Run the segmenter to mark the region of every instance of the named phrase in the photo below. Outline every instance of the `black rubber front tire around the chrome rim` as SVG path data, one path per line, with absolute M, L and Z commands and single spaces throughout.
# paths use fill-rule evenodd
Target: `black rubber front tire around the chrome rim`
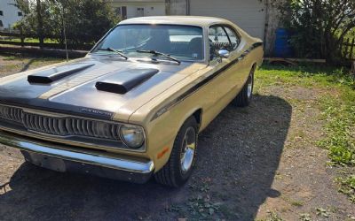
M 189 170 L 184 171 L 184 166 L 182 164 L 182 154 L 184 154 L 184 141 L 187 133 L 192 133 L 194 131 L 195 146 L 193 151 L 192 164 Z M 170 159 L 167 164 L 162 167 L 162 170 L 155 173 L 154 178 L 158 183 L 161 183 L 165 186 L 170 187 L 181 187 L 185 182 L 190 178 L 191 173 L 193 172 L 194 163 L 196 160 L 197 152 L 197 143 L 198 143 L 198 124 L 196 119 L 191 117 L 188 118 L 184 125 L 181 126 L 180 130 L 177 133 L 177 137 L 174 141 L 174 146 L 171 150 Z

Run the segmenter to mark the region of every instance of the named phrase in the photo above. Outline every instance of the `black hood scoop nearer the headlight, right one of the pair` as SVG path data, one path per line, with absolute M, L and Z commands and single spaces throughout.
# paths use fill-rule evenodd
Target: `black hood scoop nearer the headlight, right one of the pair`
M 95 87 L 100 91 L 124 95 L 132 88 L 136 88 L 159 72 L 157 69 L 131 69 L 113 73 L 105 80 L 96 82 Z

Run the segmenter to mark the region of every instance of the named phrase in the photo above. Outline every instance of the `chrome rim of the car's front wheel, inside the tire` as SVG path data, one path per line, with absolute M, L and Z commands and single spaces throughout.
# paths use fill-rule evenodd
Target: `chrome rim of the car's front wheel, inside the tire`
M 188 127 L 182 143 L 180 163 L 181 171 L 185 174 L 193 166 L 193 157 L 196 150 L 196 132 L 193 127 Z

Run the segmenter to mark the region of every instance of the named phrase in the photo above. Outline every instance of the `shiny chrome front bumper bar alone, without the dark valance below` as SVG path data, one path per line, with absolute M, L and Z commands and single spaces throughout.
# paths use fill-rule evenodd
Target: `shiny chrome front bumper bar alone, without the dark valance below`
M 64 149 L 65 147 L 51 144 L 49 142 L 31 141 L 29 139 L 0 131 L 0 143 L 16 149 L 34 152 L 44 156 L 51 156 L 62 160 L 72 161 L 81 164 L 91 164 L 111 168 L 119 171 L 128 171 L 140 174 L 154 172 L 154 162 L 148 160 L 128 160 L 104 156 L 98 153 L 81 153 Z M 54 146 L 54 147 L 53 147 Z M 55 148 L 58 146 L 58 149 Z

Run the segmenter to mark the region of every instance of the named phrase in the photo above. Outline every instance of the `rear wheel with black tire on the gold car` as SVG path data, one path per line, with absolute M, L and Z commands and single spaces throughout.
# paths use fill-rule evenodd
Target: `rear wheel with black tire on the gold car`
M 255 70 L 256 70 L 256 68 L 255 68 L 255 66 L 253 66 L 250 73 L 249 73 L 247 82 L 245 83 L 244 87 L 241 89 L 241 92 L 239 93 L 239 95 L 237 95 L 234 98 L 233 103 L 237 107 L 247 107 L 251 103 L 251 100 L 253 98 Z M 250 88 L 250 83 L 251 83 L 251 88 Z

